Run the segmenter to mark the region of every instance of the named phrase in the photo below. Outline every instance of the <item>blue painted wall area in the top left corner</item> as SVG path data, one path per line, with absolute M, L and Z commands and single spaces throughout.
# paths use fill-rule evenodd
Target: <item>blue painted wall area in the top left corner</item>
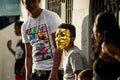
M 20 14 L 20 0 L 0 0 L 0 16 L 13 16 Z

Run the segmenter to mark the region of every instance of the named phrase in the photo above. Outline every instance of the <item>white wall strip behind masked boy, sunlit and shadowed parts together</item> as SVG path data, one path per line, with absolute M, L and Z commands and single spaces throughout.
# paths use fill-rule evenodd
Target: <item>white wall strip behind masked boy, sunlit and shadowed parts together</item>
M 72 23 L 76 26 L 75 44 L 82 50 L 87 59 L 88 66 L 91 67 L 89 53 L 89 0 L 73 0 Z

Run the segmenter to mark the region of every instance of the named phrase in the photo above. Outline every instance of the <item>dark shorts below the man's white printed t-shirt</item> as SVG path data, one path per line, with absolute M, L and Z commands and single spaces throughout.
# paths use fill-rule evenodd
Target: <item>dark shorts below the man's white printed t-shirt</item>
M 35 70 L 31 75 L 31 80 L 48 80 L 51 71 Z M 63 72 L 58 71 L 58 80 L 63 80 Z

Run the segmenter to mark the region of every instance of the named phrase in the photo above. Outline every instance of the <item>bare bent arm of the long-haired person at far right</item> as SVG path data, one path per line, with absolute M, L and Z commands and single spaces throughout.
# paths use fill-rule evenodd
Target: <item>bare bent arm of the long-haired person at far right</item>
M 102 44 L 102 52 L 108 54 L 109 56 L 120 62 L 120 47 L 117 47 L 112 43 L 106 44 L 104 42 Z

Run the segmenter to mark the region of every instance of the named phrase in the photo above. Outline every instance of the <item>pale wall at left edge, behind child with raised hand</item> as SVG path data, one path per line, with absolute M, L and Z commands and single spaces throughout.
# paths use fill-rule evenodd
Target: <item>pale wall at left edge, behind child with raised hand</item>
M 17 37 L 14 34 L 14 25 L 0 30 L 0 80 L 14 80 L 15 57 L 7 48 L 7 41 L 12 40 L 15 49 Z

